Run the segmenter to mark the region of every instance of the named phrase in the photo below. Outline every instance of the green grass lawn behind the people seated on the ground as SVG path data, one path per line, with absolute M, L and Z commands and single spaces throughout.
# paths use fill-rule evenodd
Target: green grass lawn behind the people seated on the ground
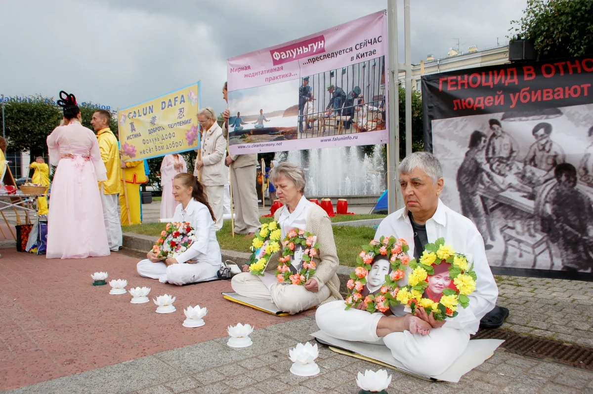
M 342 216 L 358 217 L 371 215 Z M 381 217 L 381 215 L 372 216 Z M 260 218 L 260 222 L 262 223 L 269 223 L 272 222 L 272 220 L 272 217 Z M 340 220 L 336 220 L 336 222 L 340 222 Z M 145 223 L 143 225 L 123 227 L 124 232 L 154 236 L 155 240 L 160 236 L 161 231 L 164 229 L 165 223 Z M 340 264 L 349 265 L 351 267 L 356 265 L 356 256 L 360 253 L 361 246 L 368 243 L 375 236 L 375 230 L 370 227 L 334 226 L 333 233 Z M 233 237 L 231 233 L 231 220 L 224 221 L 222 229 L 216 233 L 216 238 L 218 238 L 218 243 L 221 245 L 221 249 L 249 252 L 251 239 L 245 239 L 244 235 L 239 234 L 235 234 Z

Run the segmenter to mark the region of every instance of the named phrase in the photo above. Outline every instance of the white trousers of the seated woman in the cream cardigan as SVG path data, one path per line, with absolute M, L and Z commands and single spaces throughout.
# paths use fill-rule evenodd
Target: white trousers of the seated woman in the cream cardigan
M 241 296 L 270 300 L 282 312 L 288 312 L 291 315 L 319 305 L 331 294 L 330 289 L 325 285 L 321 285 L 320 289 L 313 293 L 298 284 L 280 283 L 274 284 L 270 293 L 260 277 L 251 273 L 240 273 L 232 277 L 231 287 Z

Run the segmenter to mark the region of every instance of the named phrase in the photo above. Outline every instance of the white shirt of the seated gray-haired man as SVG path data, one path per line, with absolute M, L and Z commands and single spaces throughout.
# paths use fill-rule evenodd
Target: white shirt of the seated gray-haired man
M 406 240 L 410 246 L 408 254 L 413 258 L 414 232 L 406 208 L 385 217 L 375 233 L 375 239 L 391 235 Z M 445 243 L 451 245 L 456 252 L 466 255 L 470 265 L 472 261 L 474 263 L 477 281 L 476 291 L 468 296 L 470 305 L 466 309 L 458 306 L 458 315 L 455 318 L 446 319 L 444 327 L 457 328 L 468 334 L 475 334 L 480 326 L 480 319 L 496 306 L 498 298 L 498 287 L 486 259 L 484 240 L 470 219 L 454 212 L 440 198 L 435 214 L 426 221 L 426 235 L 428 235 L 428 242 L 444 238 Z M 400 286 L 408 283 L 409 273 L 410 268 L 406 270 L 406 276 L 400 280 Z M 393 307 L 391 311 L 396 316 L 405 314 L 403 305 Z

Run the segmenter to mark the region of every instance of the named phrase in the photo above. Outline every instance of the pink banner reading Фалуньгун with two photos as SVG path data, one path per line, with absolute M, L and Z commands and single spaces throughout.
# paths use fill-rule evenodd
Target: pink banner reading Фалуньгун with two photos
M 387 15 L 227 60 L 232 155 L 388 142 Z

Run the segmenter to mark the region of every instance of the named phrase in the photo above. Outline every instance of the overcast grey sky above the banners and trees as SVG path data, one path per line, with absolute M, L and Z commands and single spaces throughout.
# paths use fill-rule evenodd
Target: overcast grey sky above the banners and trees
M 412 63 L 506 43 L 526 0 L 411 1 Z M 203 106 L 226 107 L 226 59 L 387 8 L 387 0 L 0 0 L 0 93 L 60 90 L 129 107 L 202 81 Z M 403 0 L 398 2 L 400 62 Z

